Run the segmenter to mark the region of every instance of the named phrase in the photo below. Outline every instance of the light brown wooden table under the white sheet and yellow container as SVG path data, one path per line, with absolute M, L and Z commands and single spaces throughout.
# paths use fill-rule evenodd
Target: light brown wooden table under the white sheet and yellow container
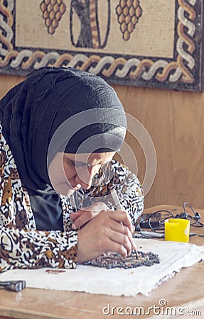
M 168 209 L 173 213 L 182 211 L 182 208 L 173 206 L 155 206 L 147 208 L 145 213 L 154 212 L 159 209 Z M 204 210 L 198 210 L 204 222 Z M 204 235 L 204 228 L 190 228 L 190 231 Z M 204 237 L 198 235 L 190 237 L 190 242 L 196 245 L 204 245 Z M 204 262 L 199 262 L 182 269 L 172 279 L 168 279 L 159 288 L 152 291 L 149 296 L 139 294 L 136 297 L 92 295 L 90 293 L 51 291 L 43 289 L 25 289 L 19 293 L 11 291 L 0 291 L 0 319 L 100 319 L 106 317 L 129 318 L 130 315 L 122 315 L 128 307 L 159 306 L 159 301 L 165 299 L 168 307 L 179 307 L 187 310 L 202 311 L 202 315 L 193 315 L 192 318 L 203 318 L 204 315 Z M 110 305 L 114 315 L 105 315 L 104 307 Z M 114 308 L 115 307 L 115 308 Z M 123 307 L 119 309 L 118 307 Z M 106 309 L 107 310 L 107 309 Z M 117 310 L 119 313 L 117 313 Z M 108 311 L 108 310 L 107 310 Z M 157 310 L 161 311 L 161 310 Z M 161 315 L 162 313 L 160 313 Z M 142 315 L 142 318 L 151 318 L 151 315 Z M 159 318 L 156 315 L 155 318 Z M 184 317 L 184 316 L 183 316 Z M 186 317 L 186 316 L 185 316 Z M 164 318 L 164 317 L 162 317 Z M 181 317 L 182 318 L 182 317 Z M 191 318 L 188 315 L 186 318 Z

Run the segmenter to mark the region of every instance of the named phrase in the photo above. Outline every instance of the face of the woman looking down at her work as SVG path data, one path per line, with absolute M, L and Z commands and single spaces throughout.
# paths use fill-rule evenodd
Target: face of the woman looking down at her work
M 102 164 L 109 162 L 115 152 L 71 154 L 58 152 L 50 162 L 48 174 L 55 191 L 66 196 L 80 189 L 90 189 L 92 179 Z

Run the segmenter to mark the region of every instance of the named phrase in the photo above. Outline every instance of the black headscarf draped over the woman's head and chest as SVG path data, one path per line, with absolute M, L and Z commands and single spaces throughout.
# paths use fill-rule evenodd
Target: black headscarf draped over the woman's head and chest
M 80 116 L 75 127 L 73 120 L 81 112 L 87 115 Z M 92 117 L 94 121 L 89 121 Z M 38 229 L 63 229 L 59 197 L 47 169 L 55 153 L 118 151 L 124 140 L 120 128 L 127 126 L 122 103 L 107 82 L 94 74 L 63 67 L 34 70 L 11 89 L 0 101 L 0 121 L 21 181 L 31 197 Z M 59 128 L 63 128 L 63 135 Z M 55 134 L 58 131 L 60 135 Z M 90 149 L 86 143 L 81 147 L 92 135 L 95 143 L 91 139 L 90 144 L 98 147 Z M 57 136 L 57 144 L 50 148 L 47 159 L 53 136 Z M 41 220 L 41 211 L 47 214 L 46 222 Z M 57 213 L 57 223 L 51 216 L 49 224 L 49 212 L 53 216 Z

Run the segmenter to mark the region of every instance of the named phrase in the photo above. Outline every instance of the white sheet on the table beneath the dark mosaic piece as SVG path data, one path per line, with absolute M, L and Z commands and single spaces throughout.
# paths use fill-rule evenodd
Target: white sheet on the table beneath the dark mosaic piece
M 160 264 L 134 269 L 102 269 L 77 265 L 77 269 L 49 274 L 48 268 L 35 270 L 10 270 L 0 274 L 0 280 L 26 280 L 26 286 L 39 289 L 85 291 L 113 296 L 148 295 L 163 281 L 183 267 L 204 260 L 204 246 L 182 242 L 136 239 L 138 250 L 159 254 Z

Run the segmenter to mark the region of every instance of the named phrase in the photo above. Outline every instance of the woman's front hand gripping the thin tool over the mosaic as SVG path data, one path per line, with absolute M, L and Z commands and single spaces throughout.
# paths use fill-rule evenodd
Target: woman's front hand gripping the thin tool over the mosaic
M 125 211 L 102 211 L 78 231 L 77 261 L 87 262 L 112 251 L 127 257 L 136 249 L 129 214 Z

